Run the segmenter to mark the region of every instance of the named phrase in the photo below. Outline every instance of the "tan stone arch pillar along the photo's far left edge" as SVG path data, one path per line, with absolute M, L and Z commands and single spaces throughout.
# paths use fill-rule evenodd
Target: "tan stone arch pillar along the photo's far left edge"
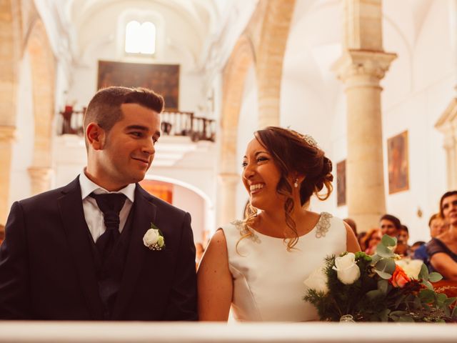
M 21 6 L 16 0 L 0 1 L 0 224 L 9 206 L 11 154 L 16 132 L 16 88 L 21 56 Z

